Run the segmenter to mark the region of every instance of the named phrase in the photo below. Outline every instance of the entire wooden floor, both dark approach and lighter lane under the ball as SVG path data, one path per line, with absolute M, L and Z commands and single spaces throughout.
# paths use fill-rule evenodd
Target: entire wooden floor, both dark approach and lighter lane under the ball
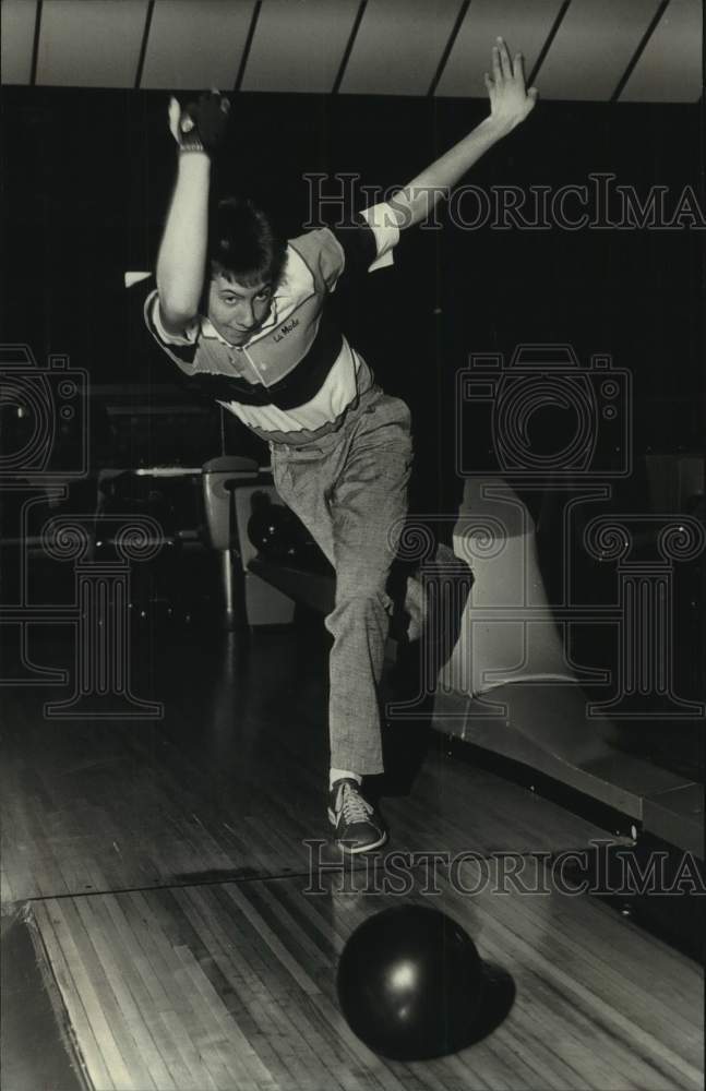
M 408 789 L 383 798 L 386 850 L 482 859 L 456 883 L 440 865 L 438 892 L 418 860 L 403 895 L 363 858 L 318 871 L 337 859 L 324 844 L 325 646 L 296 632 L 247 646 L 147 635 L 133 681 L 164 702 L 156 723 L 52 721 L 43 704 L 65 692 L 0 690 L 4 909 L 28 907 L 96 1091 L 703 1084 L 694 962 L 602 902 L 492 882 L 503 860 L 531 873 L 610 831 L 432 739 Z M 45 651 L 61 662 L 59 645 Z M 419 745 L 394 734 L 407 756 Z M 385 1062 L 340 1016 L 346 938 L 400 897 L 454 915 L 515 978 L 508 1019 L 454 1057 Z

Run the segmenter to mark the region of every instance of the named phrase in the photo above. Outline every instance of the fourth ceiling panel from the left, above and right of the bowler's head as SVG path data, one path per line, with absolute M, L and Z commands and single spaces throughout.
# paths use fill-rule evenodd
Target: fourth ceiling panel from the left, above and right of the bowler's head
M 265 0 L 242 89 L 328 93 L 358 7 L 358 0 Z

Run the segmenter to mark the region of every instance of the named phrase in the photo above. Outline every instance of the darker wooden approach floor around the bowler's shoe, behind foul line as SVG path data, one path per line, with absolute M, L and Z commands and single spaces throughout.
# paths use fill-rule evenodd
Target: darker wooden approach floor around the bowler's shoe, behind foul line
M 325 648 L 294 632 L 255 633 L 246 650 L 188 636 L 137 649 L 135 692 L 165 705 L 156 723 L 51 720 L 51 687 L 0 688 L 5 906 L 301 874 L 304 842 L 327 839 Z M 382 801 L 395 849 L 558 851 L 606 836 L 431 743 L 409 790 Z

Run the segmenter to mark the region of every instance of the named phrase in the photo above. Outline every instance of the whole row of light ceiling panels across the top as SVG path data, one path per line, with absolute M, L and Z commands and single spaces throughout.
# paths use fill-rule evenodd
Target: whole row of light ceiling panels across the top
M 0 0 L 3 84 L 32 79 L 38 7 Z M 134 86 L 151 10 L 143 87 L 230 91 L 249 48 L 244 91 L 325 94 L 356 26 L 340 92 L 426 95 L 463 13 L 438 96 L 487 98 L 483 72 L 499 34 L 525 55 L 529 75 L 555 31 L 536 77 L 542 98 L 607 101 L 621 87 L 621 101 L 697 101 L 702 0 L 670 0 L 643 49 L 662 7 L 659 0 L 44 0 L 36 81 Z

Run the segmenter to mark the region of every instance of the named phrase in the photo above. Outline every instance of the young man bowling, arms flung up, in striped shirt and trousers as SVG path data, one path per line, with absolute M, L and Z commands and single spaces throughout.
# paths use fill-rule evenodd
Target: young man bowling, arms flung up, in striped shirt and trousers
M 210 217 L 211 153 L 227 101 L 213 92 L 188 111 L 169 105 L 178 175 L 145 317 L 183 377 L 266 440 L 278 493 L 336 570 L 325 622 L 334 637 L 328 818 L 350 852 L 386 839 L 361 784 L 383 771 L 376 687 L 412 449 L 406 404 L 375 384 L 324 304 L 342 275 L 390 263 L 399 230 L 424 219 L 537 99 L 536 88 L 525 89 L 522 55 L 513 61 L 501 38 L 486 85 L 490 116 L 394 199 L 351 225 L 289 242 L 249 201 L 223 201 Z M 408 598 L 418 625 L 411 580 Z

